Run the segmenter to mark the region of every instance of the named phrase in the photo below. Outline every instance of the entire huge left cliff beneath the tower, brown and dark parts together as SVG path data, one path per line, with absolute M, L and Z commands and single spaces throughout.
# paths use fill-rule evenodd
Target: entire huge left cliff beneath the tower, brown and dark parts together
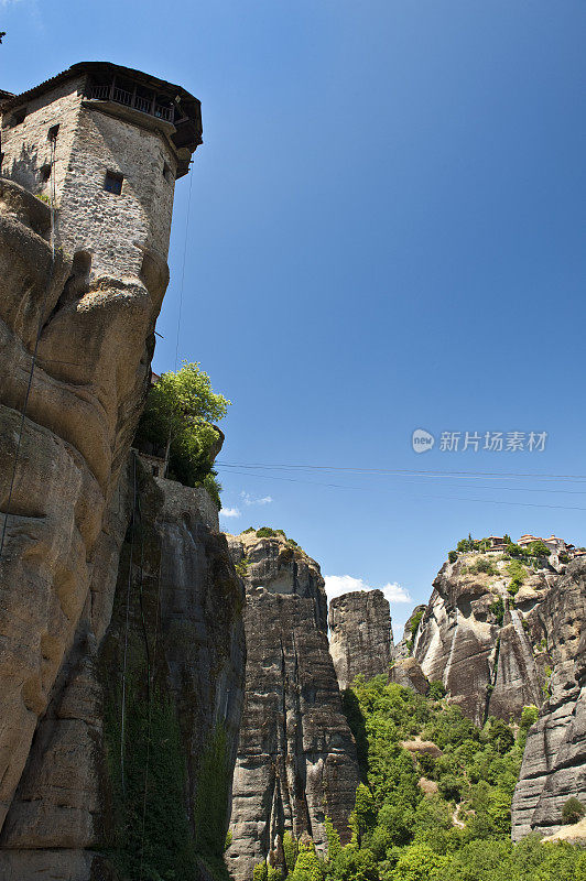
M 128 465 L 166 263 L 53 258 L 0 178 L 0 877 L 217 875 L 243 595 L 209 505 Z

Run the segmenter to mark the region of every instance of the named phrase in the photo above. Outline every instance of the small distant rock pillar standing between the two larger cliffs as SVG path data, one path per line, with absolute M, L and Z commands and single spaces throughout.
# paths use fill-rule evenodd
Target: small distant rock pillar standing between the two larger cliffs
M 382 590 L 355 590 L 329 603 L 329 651 L 341 689 L 360 673 L 389 674 L 393 635 Z

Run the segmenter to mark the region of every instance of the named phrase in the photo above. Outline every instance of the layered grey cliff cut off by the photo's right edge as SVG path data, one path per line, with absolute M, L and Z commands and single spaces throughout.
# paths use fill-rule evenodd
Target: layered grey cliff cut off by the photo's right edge
M 569 564 L 538 614 L 551 666 L 514 792 L 513 839 L 555 834 L 567 798 L 586 803 L 586 563 Z

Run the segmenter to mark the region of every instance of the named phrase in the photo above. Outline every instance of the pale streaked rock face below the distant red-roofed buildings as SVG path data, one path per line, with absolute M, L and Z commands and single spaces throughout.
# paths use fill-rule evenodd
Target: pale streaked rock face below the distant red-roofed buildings
M 414 637 L 423 674 L 441 681 L 477 725 L 489 715 L 518 718 L 542 700 L 547 653 L 538 609 L 558 576 L 527 572 L 513 601 L 509 565 L 490 553 L 446 563 Z

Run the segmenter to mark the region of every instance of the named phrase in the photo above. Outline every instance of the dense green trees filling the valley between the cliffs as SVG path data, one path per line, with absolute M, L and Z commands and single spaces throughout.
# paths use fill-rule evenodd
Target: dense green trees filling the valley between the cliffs
M 300 844 L 292 881 L 586 881 L 586 850 L 510 840 L 534 707 L 519 729 L 495 718 L 478 729 L 458 708 L 383 676 L 357 679 L 344 704 L 363 780 L 352 838 L 343 847 L 326 824 L 328 855 Z

